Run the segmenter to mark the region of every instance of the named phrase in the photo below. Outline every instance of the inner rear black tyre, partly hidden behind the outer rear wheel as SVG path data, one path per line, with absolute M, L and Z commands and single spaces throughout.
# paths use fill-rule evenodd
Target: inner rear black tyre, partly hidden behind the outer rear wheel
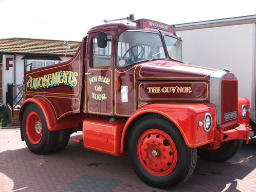
M 71 129 L 58 130 L 57 142 L 52 149 L 52 152 L 57 152 L 64 149 L 70 139 Z

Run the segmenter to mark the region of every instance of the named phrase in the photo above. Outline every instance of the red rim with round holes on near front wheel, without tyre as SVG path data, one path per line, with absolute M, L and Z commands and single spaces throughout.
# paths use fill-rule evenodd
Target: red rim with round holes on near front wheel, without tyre
M 159 129 L 147 130 L 140 136 L 137 155 L 142 167 L 154 176 L 167 176 L 177 163 L 173 140 Z

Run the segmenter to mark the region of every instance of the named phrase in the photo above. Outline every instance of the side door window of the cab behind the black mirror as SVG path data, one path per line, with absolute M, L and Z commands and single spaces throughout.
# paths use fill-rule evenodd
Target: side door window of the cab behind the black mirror
M 112 39 L 112 36 L 107 36 L 107 38 Z M 93 66 L 109 66 L 111 64 L 111 48 L 112 42 L 107 42 L 105 48 L 99 48 L 97 44 L 97 37 L 93 39 Z

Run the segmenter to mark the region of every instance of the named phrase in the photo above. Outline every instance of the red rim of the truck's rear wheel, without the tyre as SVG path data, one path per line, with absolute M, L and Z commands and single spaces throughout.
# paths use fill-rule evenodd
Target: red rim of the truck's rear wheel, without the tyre
M 38 144 L 42 138 L 42 123 L 41 119 L 38 116 L 38 113 L 32 111 L 28 113 L 26 119 L 26 132 L 28 140 L 32 144 Z

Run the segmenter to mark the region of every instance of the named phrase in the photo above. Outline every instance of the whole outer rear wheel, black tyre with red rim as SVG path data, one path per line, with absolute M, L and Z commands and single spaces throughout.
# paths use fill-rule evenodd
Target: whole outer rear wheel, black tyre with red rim
M 23 113 L 21 129 L 25 142 L 33 153 L 45 154 L 51 152 L 57 141 L 57 131 L 47 128 L 41 108 L 30 103 Z

